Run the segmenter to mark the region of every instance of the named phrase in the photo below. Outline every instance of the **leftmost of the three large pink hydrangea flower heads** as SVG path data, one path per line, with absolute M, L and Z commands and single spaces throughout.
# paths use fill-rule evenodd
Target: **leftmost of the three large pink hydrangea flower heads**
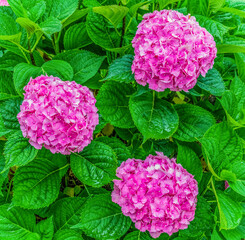
M 91 142 L 99 117 L 87 87 L 42 75 L 31 79 L 24 90 L 17 118 L 32 146 L 68 155 Z

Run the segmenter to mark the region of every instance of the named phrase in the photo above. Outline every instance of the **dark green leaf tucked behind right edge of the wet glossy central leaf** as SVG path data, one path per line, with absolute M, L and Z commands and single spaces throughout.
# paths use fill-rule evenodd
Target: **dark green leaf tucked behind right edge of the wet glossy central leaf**
M 181 141 L 196 141 L 215 123 L 211 113 L 195 105 L 176 104 L 175 110 L 179 115 L 179 128 L 173 137 Z

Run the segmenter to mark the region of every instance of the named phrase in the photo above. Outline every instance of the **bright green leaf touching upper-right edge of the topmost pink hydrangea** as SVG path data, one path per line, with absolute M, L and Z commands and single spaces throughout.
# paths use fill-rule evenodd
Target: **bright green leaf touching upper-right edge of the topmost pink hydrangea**
M 217 1 L 217 0 L 214 0 Z M 217 22 L 211 18 L 196 15 L 196 20 L 199 22 L 201 27 L 207 29 L 207 31 L 217 40 L 223 40 L 223 36 L 228 33 L 229 27 Z

